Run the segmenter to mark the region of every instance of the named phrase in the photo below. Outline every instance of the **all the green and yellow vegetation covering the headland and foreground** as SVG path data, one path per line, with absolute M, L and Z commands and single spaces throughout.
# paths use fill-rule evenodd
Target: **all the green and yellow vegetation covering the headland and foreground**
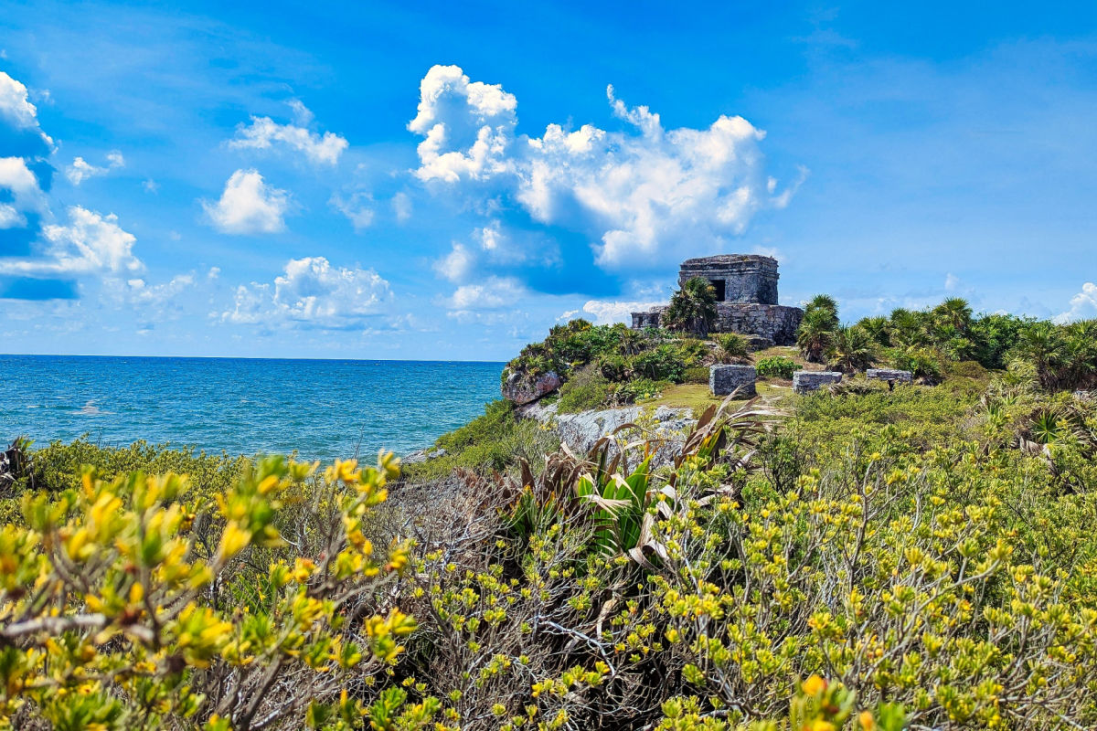
M 561 409 L 661 391 L 682 443 L 498 401 L 403 475 L 14 445 L 0 729 L 1097 727 L 1094 324 L 811 313 L 940 385 L 717 408 L 656 380 L 711 345 L 569 323 L 523 352 Z

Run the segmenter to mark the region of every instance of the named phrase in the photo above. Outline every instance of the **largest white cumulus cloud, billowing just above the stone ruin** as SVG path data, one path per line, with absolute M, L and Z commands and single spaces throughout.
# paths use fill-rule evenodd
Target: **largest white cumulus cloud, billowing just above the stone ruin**
M 765 173 L 766 133 L 742 116 L 667 129 L 658 114 L 629 107 L 611 87 L 607 96 L 631 129 L 550 124 L 541 137 L 519 136 L 512 94 L 470 81 L 456 66 L 436 66 L 408 124 L 423 137 L 416 174 L 468 185 L 541 224 L 590 237 L 597 264 L 608 271 L 726 250 L 758 212 L 788 204 L 796 184 L 780 190 Z

